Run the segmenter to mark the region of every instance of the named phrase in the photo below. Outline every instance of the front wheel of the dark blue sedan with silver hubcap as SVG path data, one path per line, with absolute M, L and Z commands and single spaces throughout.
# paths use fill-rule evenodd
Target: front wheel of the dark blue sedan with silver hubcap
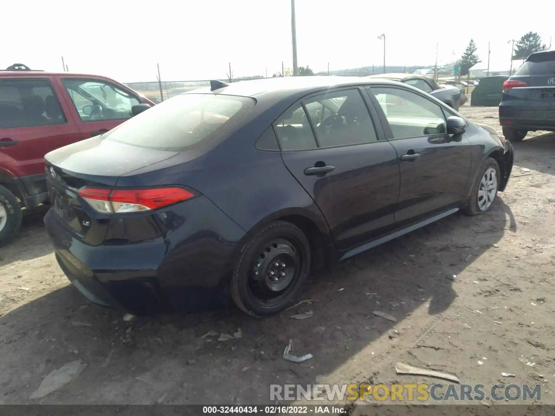
M 467 215 L 480 215 L 490 210 L 497 196 L 500 177 L 497 161 L 486 158 L 480 168 L 480 174 L 476 176 L 472 185 L 465 209 Z

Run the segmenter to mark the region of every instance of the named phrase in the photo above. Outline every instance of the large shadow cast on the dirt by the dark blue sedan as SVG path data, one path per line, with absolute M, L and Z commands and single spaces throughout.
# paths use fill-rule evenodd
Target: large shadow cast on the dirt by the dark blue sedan
M 270 384 L 314 384 L 378 338 L 388 342 L 394 326 L 403 331 L 408 314 L 441 314 L 457 297 L 453 276 L 516 227 L 499 197 L 486 215 L 446 217 L 311 276 L 301 297 L 311 302 L 263 319 L 230 306 L 124 322 L 68 285 L 0 318 L 0 403 L 38 402 L 29 395 L 42 378 L 75 359 L 87 368 L 44 404 L 149 404 L 164 394 L 174 404 L 269 403 Z M 282 358 L 290 339 L 292 353 L 314 358 Z

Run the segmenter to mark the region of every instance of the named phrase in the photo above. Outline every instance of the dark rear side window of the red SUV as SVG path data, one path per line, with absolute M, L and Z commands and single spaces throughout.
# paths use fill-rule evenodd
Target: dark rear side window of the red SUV
M 0 80 L 0 129 L 65 123 L 62 106 L 48 80 Z

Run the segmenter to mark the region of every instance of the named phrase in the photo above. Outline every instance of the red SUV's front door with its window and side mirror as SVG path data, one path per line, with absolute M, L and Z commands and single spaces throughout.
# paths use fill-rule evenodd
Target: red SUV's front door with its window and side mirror
M 133 90 L 103 77 L 60 74 L 56 78 L 82 139 L 105 133 L 131 118 L 134 105 L 153 105 Z

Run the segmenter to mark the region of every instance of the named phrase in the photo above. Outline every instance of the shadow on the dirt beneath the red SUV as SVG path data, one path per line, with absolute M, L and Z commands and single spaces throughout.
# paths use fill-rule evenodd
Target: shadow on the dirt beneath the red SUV
M 31 211 L 23 210 L 19 233 L 13 240 L 0 246 L 0 266 L 17 261 L 32 260 L 54 251 L 44 231 L 43 218 L 48 208 L 41 205 Z

